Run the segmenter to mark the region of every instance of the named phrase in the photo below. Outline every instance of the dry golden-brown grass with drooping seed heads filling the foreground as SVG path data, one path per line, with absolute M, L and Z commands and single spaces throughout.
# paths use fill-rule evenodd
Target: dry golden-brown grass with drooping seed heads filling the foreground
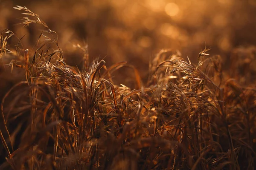
M 90 65 L 86 48 L 77 45 L 84 51 L 78 70 L 65 65 L 57 34 L 37 14 L 16 9 L 28 15 L 24 25 L 38 23 L 44 31 L 30 53 L 18 37 L 16 46 L 8 45 L 12 31 L 0 37 L 0 57 L 12 56 L 9 66 L 26 74 L 1 102 L 6 162 L 0 169 L 254 168 L 255 84 L 239 84 L 241 72 L 229 78 L 221 57 L 205 59 L 205 49 L 194 65 L 179 52 L 162 50 L 143 83 L 126 62 Z M 113 83 L 121 67 L 135 75 L 137 89 Z

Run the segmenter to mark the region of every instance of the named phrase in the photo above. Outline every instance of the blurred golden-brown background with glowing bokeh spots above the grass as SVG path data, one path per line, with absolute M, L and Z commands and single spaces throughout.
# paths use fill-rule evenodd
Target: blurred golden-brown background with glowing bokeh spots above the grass
M 88 43 L 91 61 L 104 58 L 109 66 L 125 60 L 143 80 L 150 59 L 163 48 L 179 50 L 196 63 L 206 46 L 228 67 L 230 51 L 256 43 L 256 0 L 0 0 L 0 29 L 26 34 L 24 48 L 32 49 L 42 28 L 17 25 L 24 15 L 12 8 L 16 5 L 39 14 L 58 33 L 69 65 L 83 64 L 73 44 Z M 116 76 L 129 74 L 120 73 Z

